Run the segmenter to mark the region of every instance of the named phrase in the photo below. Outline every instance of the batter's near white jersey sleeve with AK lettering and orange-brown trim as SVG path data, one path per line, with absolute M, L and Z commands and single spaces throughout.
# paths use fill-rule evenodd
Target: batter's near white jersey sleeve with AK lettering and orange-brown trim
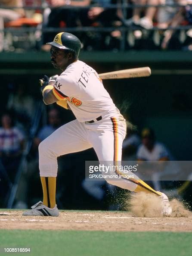
M 58 100 L 63 100 L 66 97 L 78 97 L 80 88 L 71 76 L 60 75 L 54 83 L 53 94 Z

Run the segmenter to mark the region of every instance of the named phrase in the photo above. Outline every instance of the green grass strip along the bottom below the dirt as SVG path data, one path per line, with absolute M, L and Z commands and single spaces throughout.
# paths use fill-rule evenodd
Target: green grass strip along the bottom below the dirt
M 191 241 L 189 232 L 0 230 L 0 255 L 191 256 Z M 4 247 L 31 252 L 3 253 Z

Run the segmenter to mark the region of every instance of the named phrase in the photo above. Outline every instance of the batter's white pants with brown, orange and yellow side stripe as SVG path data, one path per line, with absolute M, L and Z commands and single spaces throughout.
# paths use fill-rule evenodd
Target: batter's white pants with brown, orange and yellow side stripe
M 39 145 L 41 177 L 57 176 L 57 157 L 94 148 L 99 161 L 121 161 L 126 123 L 121 114 L 89 124 L 71 121 L 43 140 Z M 115 173 L 114 173 L 115 174 Z M 108 183 L 134 191 L 136 184 L 129 180 L 106 180 Z

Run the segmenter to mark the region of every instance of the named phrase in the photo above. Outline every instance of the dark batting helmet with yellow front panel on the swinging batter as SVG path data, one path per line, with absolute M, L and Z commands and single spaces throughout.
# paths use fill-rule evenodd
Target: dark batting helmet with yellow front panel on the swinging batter
M 78 57 L 79 52 L 81 50 L 81 41 L 74 34 L 70 34 L 67 32 L 61 32 L 56 34 L 53 42 L 46 43 L 53 45 L 59 49 L 64 50 L 74 50 L 76 56 Z

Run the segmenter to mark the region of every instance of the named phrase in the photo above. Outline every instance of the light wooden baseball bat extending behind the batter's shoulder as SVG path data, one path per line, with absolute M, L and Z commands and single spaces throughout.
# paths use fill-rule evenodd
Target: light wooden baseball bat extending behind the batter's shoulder
M 101 79 L 119 79 L 119 78 L 135 78 L 151 75 L 149 67 L 136 68 L 136 69 L 123 69 L 99 74 Z

